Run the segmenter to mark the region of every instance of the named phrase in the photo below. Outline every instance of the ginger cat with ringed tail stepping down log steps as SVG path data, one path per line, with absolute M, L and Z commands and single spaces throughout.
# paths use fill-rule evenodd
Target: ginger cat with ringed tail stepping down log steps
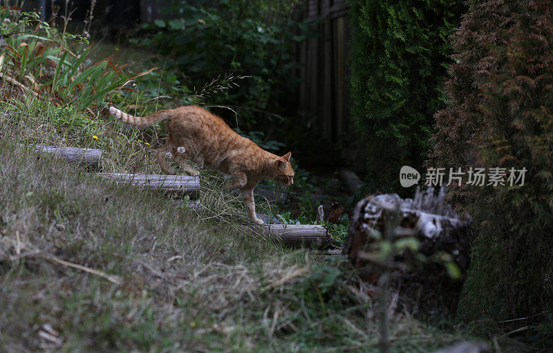
M 234 132 L 221 117 L 199 106 L 181 106 L 146 117 L 134 117 L 113 106 L 109 113 L 133 126 L 149 126 L 167 120 L 169 142 L 155 151 L 161 169 L 168 174 L 175 173 L 167 166 L 166 157 L 171 153 L 189 175 L 200 172 L 187 164 L 187 160 L 232 175 L 234 182 L 227 183 L 225 188 L 240 189 L 248 216 L 259 225 L 263 221 L 256 216 L 253 195 L 259 180 L 270 178 L 280 184 L 294 183 L 294 169 L 290 166 L 292 153 L 279 157 L 261 149 L 252 140 Z

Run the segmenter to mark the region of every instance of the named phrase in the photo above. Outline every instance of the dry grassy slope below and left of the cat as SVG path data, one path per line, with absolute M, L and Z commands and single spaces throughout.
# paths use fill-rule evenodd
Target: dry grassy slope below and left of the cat
M 243 227 L 242 205 L 221 178 L 203 175 L 205 207 L 196 213 L 17 146 L 105 149 L 108 140 L 113 155 L 104 168 L 127 170 L 126 154 L 135 153 L 138 169 L 157 170 L 135 132 L 100 121 L 71 132 L 79 112 L 41 104 L 4 103 L 0 113 L 2 350 L 378 351 L 375 303 L 343 260 Z M 472 337 L 470 326 L 433 326 L 398 312 L 394 352 Z

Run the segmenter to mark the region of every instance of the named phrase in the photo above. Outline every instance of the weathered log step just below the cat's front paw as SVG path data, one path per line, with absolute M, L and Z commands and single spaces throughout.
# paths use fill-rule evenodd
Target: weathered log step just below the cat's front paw
M 334 240 L 321 225 L 263 225 L 265 236 L 271 236 L 288 246 L 307 246 L 317 249 L 334 247 Z

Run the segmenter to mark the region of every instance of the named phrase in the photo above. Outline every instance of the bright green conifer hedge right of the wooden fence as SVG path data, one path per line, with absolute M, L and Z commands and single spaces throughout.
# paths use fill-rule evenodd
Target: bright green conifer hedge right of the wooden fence
M 368 155 L 368 181 L 397 189 L 400 167 L 418 169 L 429 149 L 432 116 L 443 105 L 441 77 L 451 62 L 447 37 L 465 8 L 460 0 L 350 3 L 352 113 Z

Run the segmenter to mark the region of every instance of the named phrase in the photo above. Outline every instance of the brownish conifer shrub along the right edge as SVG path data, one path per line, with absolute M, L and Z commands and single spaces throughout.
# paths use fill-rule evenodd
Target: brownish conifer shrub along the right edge
M 505 185 L 453 185 L 476 225 L 465 318 L 530 316 L 553 305 L 553 6 L 478 2 L 454 36 L 448 107 L 429 164 L 504 168 Z M 507 182 L 526 169 L 524 184 Z

